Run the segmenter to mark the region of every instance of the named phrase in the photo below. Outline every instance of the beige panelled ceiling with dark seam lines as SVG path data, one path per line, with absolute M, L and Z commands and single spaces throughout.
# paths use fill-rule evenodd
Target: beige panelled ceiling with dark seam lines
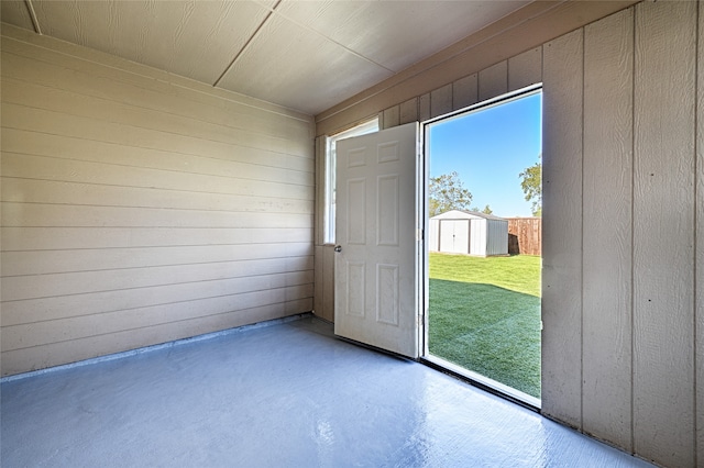
M 315 115 L 529 2 L 2 0 L 0 14 Z

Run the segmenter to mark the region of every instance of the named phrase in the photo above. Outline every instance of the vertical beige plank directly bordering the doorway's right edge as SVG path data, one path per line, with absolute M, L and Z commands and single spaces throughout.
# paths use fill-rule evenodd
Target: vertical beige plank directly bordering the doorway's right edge
M 583 30 L 543 46 L 542 412 L 582 428 Z

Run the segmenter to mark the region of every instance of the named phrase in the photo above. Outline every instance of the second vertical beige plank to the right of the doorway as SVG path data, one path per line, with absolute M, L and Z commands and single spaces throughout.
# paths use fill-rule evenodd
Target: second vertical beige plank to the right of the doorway
M 584 432 L 630 450 L 632 9 L 584 30 Z

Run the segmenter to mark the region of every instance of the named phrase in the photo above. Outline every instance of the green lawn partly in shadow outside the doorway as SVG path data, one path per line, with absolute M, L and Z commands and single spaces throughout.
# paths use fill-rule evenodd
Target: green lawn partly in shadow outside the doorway
M 430 254 L 430 354 L 540 398 L 540 257 Z

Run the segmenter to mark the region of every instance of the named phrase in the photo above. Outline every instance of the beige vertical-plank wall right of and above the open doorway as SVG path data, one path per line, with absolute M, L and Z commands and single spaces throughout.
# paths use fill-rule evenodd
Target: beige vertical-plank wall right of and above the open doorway
M 542 413 L 678 467 L 704 464 L 702 9 L 645 1 L 380 110 L 542 81 Z

